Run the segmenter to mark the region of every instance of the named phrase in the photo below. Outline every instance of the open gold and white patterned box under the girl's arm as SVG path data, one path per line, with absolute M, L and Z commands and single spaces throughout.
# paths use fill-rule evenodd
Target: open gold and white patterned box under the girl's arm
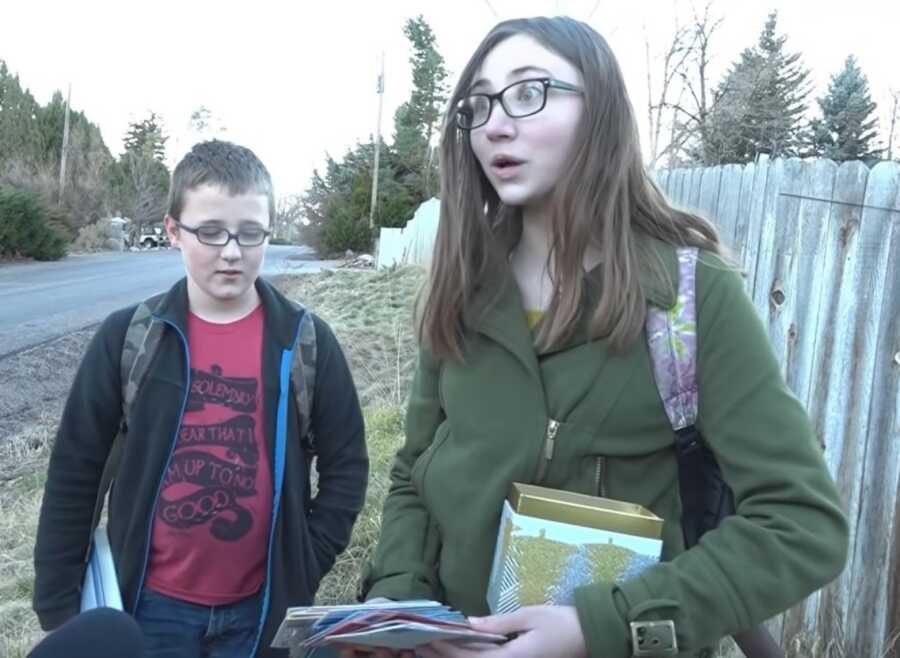
M 568 605 L 577 588 L 627 580 L 659 561 L 663 520 L 609 498 L 514 483 L 504 502 L 487 602 L 495 614 Z

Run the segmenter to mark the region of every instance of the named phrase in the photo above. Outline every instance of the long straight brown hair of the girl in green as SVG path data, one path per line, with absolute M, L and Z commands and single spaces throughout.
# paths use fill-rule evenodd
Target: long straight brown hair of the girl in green
M 462 359 L 463 318 L 476 284 L 507 268 L 521 234 L 521 212 L 504 206 L 481 170 L 469 135 L 456 127 L 455 108 L 469 93 L 487 54 L 501 41 L 526 34 L 577 68 L 585 111 L 568 170 L 553 191 L 551 272 L 555 293 L 538 326 L 539 349 L 572 335 L 582 306 L 587 245 L 601 251 L 602 287 L 592 335 L 623 350 L 639 336 L 646 300 L 638 273 L 662 264 L 641 250 L 636 234 L 673 245 L 722 248 L 704 219 L 673 208 L 644 169 L 634 111 L 618 62 L 592 28 L 571 18 L 504 21 L 484 38 L 453 91 L 441 136 L 441 216 L 430 280 L 419 316 L 419 339 L 438 357 Z

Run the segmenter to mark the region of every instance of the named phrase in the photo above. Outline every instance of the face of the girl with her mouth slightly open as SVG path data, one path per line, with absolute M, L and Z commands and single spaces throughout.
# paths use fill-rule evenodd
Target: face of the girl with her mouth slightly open
M 494 94 L 515 82 L 547 78 L 583 88 L 581 75 L 572 64 L 532 37 L 517 34 L 488 53 L 469 94 Z M 536 82 L 514 87 L 503 100 L 513 114 L 520 114 L 539 107 L 529 103 L 540 93 L 546 94 L 546 105 L 536 114 L 511 118 L 494 100 L 487 123 L 471 130 L 475 157 L 506 205 L 535 207 L 546 202 L 574 150 L 584 111 L 580 93 Z M 485 101 L 481 97 L 473 103 L 480 103 L 483 109 Z

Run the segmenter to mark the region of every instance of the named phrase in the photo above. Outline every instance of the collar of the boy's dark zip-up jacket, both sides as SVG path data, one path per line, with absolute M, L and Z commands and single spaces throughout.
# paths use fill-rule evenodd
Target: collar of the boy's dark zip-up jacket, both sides
M 290 349 L 297 334 L 297 323 L 303 307 L 290 301 L 272 284 L 257 277 L 256 291 L 266 312 L 266 333 L 284 349 Z M 188 291 L 187 278 L 182 278 L 164 293 L 154 315 L 187 332 Z

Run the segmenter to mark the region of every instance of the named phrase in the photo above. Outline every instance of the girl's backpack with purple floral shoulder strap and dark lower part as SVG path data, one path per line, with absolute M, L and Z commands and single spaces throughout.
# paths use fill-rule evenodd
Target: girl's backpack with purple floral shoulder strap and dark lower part
M 678 297 L 675 306 L 647 311 L 647 342 L 653 379 L 674 433 L 685 548 L 694 546 L 725 517 L 735 513 L 734 493 L 722 477 L 715 455 L 697 430 L 697 295 L 698 250 L 678 254 Z M 747 658 L 783 658 L 765 626 L 736 633 L 734 640 Z

